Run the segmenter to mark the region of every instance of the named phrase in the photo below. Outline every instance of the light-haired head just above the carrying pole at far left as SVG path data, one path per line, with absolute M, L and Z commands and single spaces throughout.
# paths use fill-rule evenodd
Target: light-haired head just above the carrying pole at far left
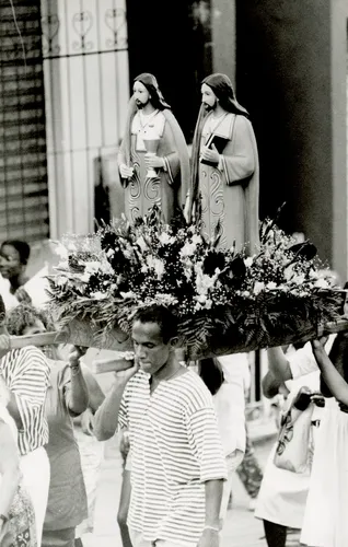
M 19 304 L 7 314 L 8 331 L 12 336 L 38 335 L 54 330 L 45 312 L 30 304 Z

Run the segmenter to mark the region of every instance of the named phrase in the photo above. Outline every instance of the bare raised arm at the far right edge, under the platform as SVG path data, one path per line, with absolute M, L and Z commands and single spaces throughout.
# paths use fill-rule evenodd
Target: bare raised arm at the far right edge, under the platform
M 323 379 L 325 380 L 329 391 L 338 403 L 348 406 L 348 384 L 329 360 L 322 341 L 313 340 L 312 349 L 317 365 L 322 371 Z

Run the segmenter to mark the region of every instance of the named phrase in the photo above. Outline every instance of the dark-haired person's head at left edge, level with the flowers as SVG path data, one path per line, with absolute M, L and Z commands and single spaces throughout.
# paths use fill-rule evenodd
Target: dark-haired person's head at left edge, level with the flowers
M 20 277 L 24 274 L 31 247 L 24 241 L 9 240 L 0 246 L 0 274 L 5 279 Z

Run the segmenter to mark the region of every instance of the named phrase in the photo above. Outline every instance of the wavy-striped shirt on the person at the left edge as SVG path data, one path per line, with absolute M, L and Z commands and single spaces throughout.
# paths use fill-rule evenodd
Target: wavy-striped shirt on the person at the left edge
M 34 346 L 9 351 L 0 360 L 0 372 L 14 395 L 22 429 L 19 430 L 21 455 L 33 452 L 48 442 L 45 418 L 49 365 L 44 353 Z

